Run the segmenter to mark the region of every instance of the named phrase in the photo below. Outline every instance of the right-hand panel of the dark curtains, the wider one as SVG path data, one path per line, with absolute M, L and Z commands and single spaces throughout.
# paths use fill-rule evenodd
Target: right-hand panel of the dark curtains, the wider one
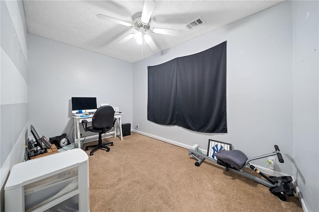
M 226 42 L 177 58 L 178 126 L 197 132 L 227 132 Z

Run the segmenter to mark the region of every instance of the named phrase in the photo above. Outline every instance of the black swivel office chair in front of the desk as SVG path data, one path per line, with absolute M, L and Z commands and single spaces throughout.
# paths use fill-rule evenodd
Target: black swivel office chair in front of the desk
M 114 126 L 116 118 L 114 118 L 114 109 L 112 106 L 101 106 L 99 107 L 92 117 L 92 126 L 87 127 L 87 120 L 82 120 L 82 125 L 85 131 L 98 132 L 99 133 L 99 143 L 96 145 L 86 146 L 85 150 L 94 147 L 91 150 L 90 155 L 98 150 L 99 148 L 104 148 L 106 151 L 110 151 L 108 145 L 113 146 L 113 142 L 102 143 L 102 134 L 106 133 Z

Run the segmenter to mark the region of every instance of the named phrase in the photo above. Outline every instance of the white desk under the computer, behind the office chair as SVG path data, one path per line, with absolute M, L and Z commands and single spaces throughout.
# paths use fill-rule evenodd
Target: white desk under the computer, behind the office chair
M 122 116 L 123 112 L 122 113 L 115 113 L 114 114 L 114 117 L 117 118 L 117 120 L 115 121 L 115 124 L 114 124 L 114 131 L 111 131 L 111 132 L 107 132 L 105 134 L 111 134 L 111 133 L 114 133 L 114 137 L 116 137 L 116 128 L 117 128 L 117 125 L 119 123 L 119 128 L 120 128 L 120 135 L 121 135 L 121 141 L 123 141 L 123 134 L 122 134 L 122 121 L 121 121 L 121 116 Z M 80 137 L 80 124 L 82 125 L 82 120 L 87 120 L 88 122 L 91 122 L 92 121 L 92 117 L 93 117 L 93 114 L 92 115 L 86 115 L 86 116 L 72 116 L 73 120 L 74 120 L 74 143 L 79 143 L 78 142 L 78 138 L 80 138 L 80 141 L 81 141 L 81 137 Z M 81 126 L 82 127 L 82 126 Z M 82 138 L 82 140 L 84 140 L 84 138 Z M 80 144 L 78 145 L 79 148 L 81 148 L 81 142 Z

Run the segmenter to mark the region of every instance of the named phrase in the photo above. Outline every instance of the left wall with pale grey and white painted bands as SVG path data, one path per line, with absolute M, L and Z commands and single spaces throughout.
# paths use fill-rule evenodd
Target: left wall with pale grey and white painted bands
M 22 1 L 0 1 L 0 211 L 9 170 L 24 158 L 28 125 L 26 22 Z

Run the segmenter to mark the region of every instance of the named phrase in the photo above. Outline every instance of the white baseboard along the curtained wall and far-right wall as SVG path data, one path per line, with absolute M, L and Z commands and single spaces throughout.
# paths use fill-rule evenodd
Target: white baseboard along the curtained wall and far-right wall
M 139 130 L 134 130 L 134 131 L 136 133 L 139 133 L 139 134 L 151 137 L 151 138 L 155 138 L 155 139 L 158 139 L 158 140 L 161 140 L 161 141 L 164 141 L 164 142 L 176 145 L 176 146 L 180 146 L 180 147 L 183 147 L 183 148 L 186 148 L 186 149 L 189 149 L 191 147 L 189 145 L 186 145 L 186 144 L 183 144 L 183 143 L 180 143 L 180 142 L 176 142 L 176 141 L 173 141 L 173 140 L 162 138 L 160 136 L 152 135 L 152 134 L 149 134 L 149 133 L 146 133 L 146 132 L 142 132 L 142 131 L 139 131 Z M 207 150 L 204 150 L 204 149 L 200 149 L 200 150 L 201 150 L 201 152 L 203 154 L 207 154 Z M 255 164 L 252 164 L 252 165 L 255 166 L 256 168 L 258 168 L 260 171 L 262 171 L 263 173 L 265 173 L 267 175 L 271 175 L 271 176 L 287 176 L 288 175 L 288 174 L 285 174 L 285 173 L 282 173 L 282 172 L 278 172 L 278 171 L 275 171 L 275 170 L 272 170 L 272 169 L 268 169 L 268 168 L 265 168 L 265 167 L 257 166 Z M 291 175 L 289 175 L 289 176 L 291 176 Z M 307 208 L 307 206 L 305 204 L 304 198 L 303 198 L 303 196 L 302 196 L 302 194 L 301 194 L 301 192 L 300 192 L 300 190 L 298 188 L 298 185 L 297 185 L 297 183 L 295 181 L 295 178 L 293 176 L 292 176 L 292 178 L 293 178 L 293 184 L 295 186 L 295 191 L 296 191 L 296 194 L 298 196 L 299 202 L 300 202 L 304 212 L 309 212 L 308 208 Z

